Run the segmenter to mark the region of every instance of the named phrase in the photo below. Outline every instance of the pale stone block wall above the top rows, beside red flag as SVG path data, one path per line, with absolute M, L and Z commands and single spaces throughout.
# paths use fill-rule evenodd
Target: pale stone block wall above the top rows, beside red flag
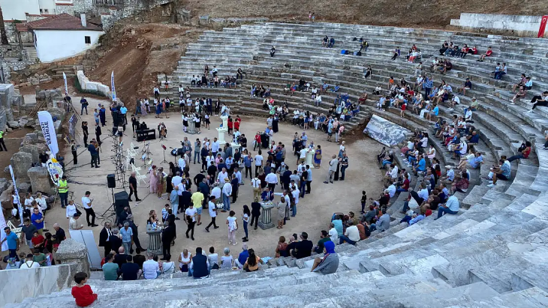
M 451 25 L 473 30 L 493 29 L 515 31 L 525 36 L 535 36 L 539 31 L 542 16 L 501 15 L 501 14 L 460 14 L 460 19 L 452 19 Z M 545 36 L 548 33 L 545 32 Z

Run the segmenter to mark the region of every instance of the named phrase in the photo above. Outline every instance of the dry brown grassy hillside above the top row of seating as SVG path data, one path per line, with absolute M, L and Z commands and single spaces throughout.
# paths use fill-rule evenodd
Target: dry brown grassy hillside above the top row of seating
M 546 15 L 546 1 L 530 1 L 524 5 L 517 0 L 315 0 L 315 1 L 225 1 L 185 0 L 182 5 L 192 16 L 210 17 L 266 17 L 271 20 L 308 21 L 309 11 L 314 11 L 316 21 L 368 24 L 380 26 L 420 26 L 444 28 L 450 19 L 460 13 L 487 13 L 509 15 Z

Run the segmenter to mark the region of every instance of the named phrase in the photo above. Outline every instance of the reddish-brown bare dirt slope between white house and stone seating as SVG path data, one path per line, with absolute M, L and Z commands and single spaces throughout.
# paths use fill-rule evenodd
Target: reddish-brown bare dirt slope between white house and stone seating
M 90 80 L 109 85 L 115 74 L 116 92 L 128 106 L 137 98 L 149 97 L 157 74 L 170 74 L 186 44 L 201 31 L 175 24 L 150 23 L 127 19 L 101 40 L 101 47 L 84 59 Z

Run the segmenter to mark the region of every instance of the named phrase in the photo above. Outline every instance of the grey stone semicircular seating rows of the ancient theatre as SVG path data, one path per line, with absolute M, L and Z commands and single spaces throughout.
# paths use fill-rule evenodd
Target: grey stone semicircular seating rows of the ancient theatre
M 335 48 L 322 47 L 325 35 L 334 36 Z M 357 49 L 353 37 L 366 38 L 369 50 L 361 57 L 341 55 L 340 49 Z M 396 219 L 389 230 L 374 231 L 356 246 L 337 246 L 340 265 L 332 275 L 310 273 L 312 258 L 278 258 L 258 272 L 221 270 L 206 280 L 181 274 L 155 281 L 90 280 L 99 292 L 101 306 L 546 307 L 548 151 L 543 150 L 543 144 L 548 107 L 528 112 L 530 95 L 510 104 L 508 89 L 524 72 L 534 80 L 532 92 L 548 90 L 548 40 L 344 24 L 244 25 L 222 32 L 206 31 L 198 43 L 190 44 L 169 77 L 173 92 L 162 96 L 176 96 L 176 86 L 189 84 L 192 74 L 201 74 L 206 64 L 210 68 L 216 65 L 221 77 L 235 74 L 240 67 L 246 72 L 241 88 L 192 89 L 192 94 L 219 97 L 236 113 L 264 114 L 261 101 L 249 97 L 250 84 L 261 83 L 270 85 L 275 100 L 287 99 L 290 108 L 317 112 L 307 94 L 282 95 L 283 85 L 299 78 L 316 85 L 336 83 L 355 101 L 378 84 L 385 87 L 389 76 L 414 79 L 416 64 L 390 60 L 395 45 L 404 50 L 416 44 L 427 59 L 438 54 L 443 40 L 477 45 L 480 50 L 492 46 L 494 50 L 493 57 L 484 62 L 476 62 L 477 56 L 471 55 L 452 58 L 452 71 L 428 73 L 436 83 L 444 79 L 453 89 L 470 78 L 473 88 L 461 96 L 461 102 L 466 104 L 471 96 L 480 101 L 479 110 L 473 113 L 481 137 L 475 149 L 484 154 L 486 164 L 471 170 L 471 188 L 466 194 L 458 193 L 463 206 L 457 215 L 434 220 L 433 214 L 407 228 Z M 274 57 L 269 55 L 272 45 L 276 46 Z M 490 78 L 496 62 L 509 66 L 502 80 Z M 367 65 L 373 67 L 373 75 L 366 80 L 363 69 Z M 373 96 L 362 105 L 362 113 L 377 114 L 408 129 L 432 131 L 432 121 L 410 113 L 400 118 L 394 108 L 376 110 L 377 99 Z M 327 109 L 333 100 L 333 95 L 326 95 L 321 107 Z M 444 105 L 441 116 L 449 118 L 461 110 L 457 106 L 449 111 Z M 351 124 L 355 126 L 356 121 Z M 522 140 L 532 141 L 534 154 L 512 162 L 510 181 L 488 189 L 483 178 L 489 166 L 501 155 L 515 153 Z M 431 143 L 436 145 L 442 164 L 452 164 L 447 150 L 435 139 Z M 395 197 L 389 207 L 395 218 L 400 218 L 397 215 L 406 196 Z M 8 305 L 69 306 L 73 300 L 68 289 Z

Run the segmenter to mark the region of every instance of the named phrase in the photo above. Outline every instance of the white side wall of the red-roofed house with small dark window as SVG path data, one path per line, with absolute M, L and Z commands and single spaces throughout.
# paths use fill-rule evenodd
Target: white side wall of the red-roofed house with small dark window
M 36 51 L 42 62 L 53 62 L 74 56 L 94 47 L 102 31 L 90 30 L 35 30 Z M 91 44 L 85 44 L 84 37 L 91 38 Z

